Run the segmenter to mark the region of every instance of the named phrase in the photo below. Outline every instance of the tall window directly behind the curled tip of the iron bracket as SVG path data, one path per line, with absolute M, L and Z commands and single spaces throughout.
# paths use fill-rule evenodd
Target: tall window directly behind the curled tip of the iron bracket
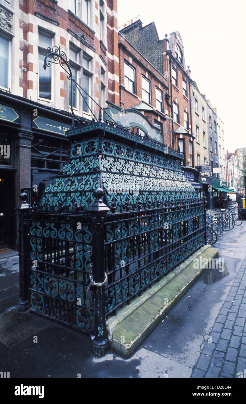
M 39 33 L 39 97 L 51 100 L 51 72 L 52 69 L 44 70 L 44 58 L 47 55 L 47 48 L 52 48 L 52 38 L 43 33 Z M 42 49 L 41 49 L 42 48 Z

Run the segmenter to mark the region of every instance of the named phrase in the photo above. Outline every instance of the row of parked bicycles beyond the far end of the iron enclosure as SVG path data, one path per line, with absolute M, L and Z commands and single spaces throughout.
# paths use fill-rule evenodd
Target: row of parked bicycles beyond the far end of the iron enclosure
M 214 244 L 223 231 L 229 231 L 242 224 L 242 216 L 236 210 L 237 203 L 227 209 L 207 210 L 206 237 L 207 244 Z

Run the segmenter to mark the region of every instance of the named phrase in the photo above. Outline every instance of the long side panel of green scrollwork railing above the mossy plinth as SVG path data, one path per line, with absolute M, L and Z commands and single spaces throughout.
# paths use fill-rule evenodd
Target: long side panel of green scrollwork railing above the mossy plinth
M 139 295 L 205 244 L 205 203 L 180 201 L 107 216 L 106 314 Z

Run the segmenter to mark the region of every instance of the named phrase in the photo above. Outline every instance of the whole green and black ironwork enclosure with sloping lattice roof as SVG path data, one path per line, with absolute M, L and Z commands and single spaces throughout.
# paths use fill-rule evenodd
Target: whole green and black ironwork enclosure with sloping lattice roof
M 72 78 L 59 48 L 48 57 Z M 183 156 L 100 115 L 67 131 L 70 158 L 38 206 L 24 193 L 17 207 L 19 310 L 93 334 L 99 356 L 106 316 L 206 243 L 205 200 Z

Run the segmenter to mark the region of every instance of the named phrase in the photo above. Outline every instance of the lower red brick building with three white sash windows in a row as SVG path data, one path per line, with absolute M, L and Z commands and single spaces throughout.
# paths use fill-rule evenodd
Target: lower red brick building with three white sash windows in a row
M 120 107 L 141 112 L 170 144 L 166 78 L 120 34 L 119 60 Z

